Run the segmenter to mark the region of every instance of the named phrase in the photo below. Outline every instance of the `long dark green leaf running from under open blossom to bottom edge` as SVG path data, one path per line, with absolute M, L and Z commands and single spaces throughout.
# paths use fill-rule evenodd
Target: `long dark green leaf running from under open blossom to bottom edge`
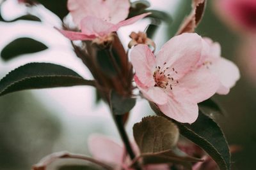
M 212 118 L 199 111 L 196 122 L 193 124 L 182 124 L 166 117 L 156 104 L 150 103 L 150 106 L 157 115 L 168 118 L 168 120 L 175 123 L 179 127 L 182 136 L 204 149 L 215 160 L 221 170 L 230 169 L 230 152 L 227 141 L 220 127 Z

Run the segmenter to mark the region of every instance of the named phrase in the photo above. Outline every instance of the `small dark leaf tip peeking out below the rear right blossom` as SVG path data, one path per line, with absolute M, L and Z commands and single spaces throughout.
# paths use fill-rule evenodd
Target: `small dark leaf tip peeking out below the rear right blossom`
M 220 104 L 218 104 L 214 99 L 207 99 L 201 103 L 198 103 L 200 111 L 209 117 L 214 117 L 215 113 L 220 113 L 221 115 L 225 115 L 225 110 L 221 108 Z

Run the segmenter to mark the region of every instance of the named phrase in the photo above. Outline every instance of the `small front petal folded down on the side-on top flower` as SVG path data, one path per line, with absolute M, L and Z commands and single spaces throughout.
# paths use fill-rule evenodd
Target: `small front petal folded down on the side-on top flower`
M 85 17 L 81 20 L 81 30 L 87 35 L 106 36 L 115 25 L 97 17 Z

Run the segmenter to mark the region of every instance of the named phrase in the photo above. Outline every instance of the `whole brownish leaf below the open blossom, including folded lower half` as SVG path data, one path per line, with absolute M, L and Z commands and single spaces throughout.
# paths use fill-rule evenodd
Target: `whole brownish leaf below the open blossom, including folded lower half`
M 179 129 L 164 117 L 145 117 L 133 127 L 134 139 L 144 164 L 177 163 L 186 167 L 200 159 L 190 157 L 177 148 Z

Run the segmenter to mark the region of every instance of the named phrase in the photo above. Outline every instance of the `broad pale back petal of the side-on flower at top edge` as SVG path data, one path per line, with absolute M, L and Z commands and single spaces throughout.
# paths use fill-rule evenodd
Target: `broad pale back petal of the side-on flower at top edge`
M 81 20 L 88 16 L 116 24 L 127 18 L 130 3 L 128 0 L 68 0 L 67 6 L 79 26 Z

